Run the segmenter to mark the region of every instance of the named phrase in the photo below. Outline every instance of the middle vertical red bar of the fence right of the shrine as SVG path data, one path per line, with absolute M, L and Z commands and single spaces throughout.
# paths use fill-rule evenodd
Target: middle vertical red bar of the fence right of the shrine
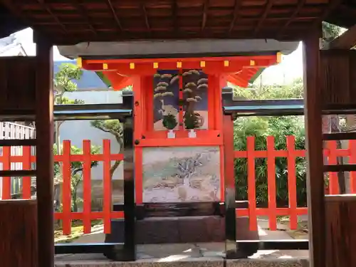
M 276 202 L 276 157 L 274 137 L 267 137 L 267 182 L 268 182 L 268 224 L 272 231 L 277 230 L 277 202 Z

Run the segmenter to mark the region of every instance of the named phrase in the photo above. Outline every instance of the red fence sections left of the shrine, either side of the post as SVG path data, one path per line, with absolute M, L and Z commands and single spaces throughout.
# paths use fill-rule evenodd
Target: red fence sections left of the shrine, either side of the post
M 71 220 L 83 220 L 84 234 L 90 234 L 91 221 L 103 219 L 104 233 L 109 234 L 110 220 L 123 217 L 122 211 L 112 211 L 112 183 L 110 179 L 110 166 L 112 160 L 122 160 L 122 154 L 112 154 L 110 152 L 110 140 L 103 140 L 103 154 L 91 154 L 90 140 L 83 140 L 83 154 L 71 155 L 70 141 L 63 141 L 63 154 L 55 155 L 54 161 L 61 162 L 63 167 L 63 211 L 55 212 L 56 220 L 62 221 L 63 234 L 70 234 Z M 91 162 L 103 162 L 103 211 L 92 211 L 91 207 Z M 23 147 L 23 155 L 11 156 L 10 147 L 3 147 L 3 153 L 0 157 L 3 169 L 10 169 L 11 162 L 22 162 L 23 169 L 31 169 L 31 163 L 36 162 L 36 157 L 31 155 L 31 147 Z M 71 211 L 71 162 L 83 162 L 83 212 Z M 31 177 L 23 177 L 23 199 L 31 197 Z M 11 199 L 11 177 L 2 179 L 2 199 Z

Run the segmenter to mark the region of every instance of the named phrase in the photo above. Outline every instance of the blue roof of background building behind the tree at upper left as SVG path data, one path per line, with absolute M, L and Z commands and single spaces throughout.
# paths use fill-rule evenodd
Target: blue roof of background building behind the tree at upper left
M 53 62 L 53 72 L 58 73 L 59 66 L 62 63 L 72 63 L 75 64 L 75 61 L 54 61 Z M 83 76 L 80 80 L 73 80 L 77 84 L 77 90 L 88 90 L 88 89 L 105 89 L 108 88 L 103 80 L 99 78 L 99 76 L 91 70 L 83 70 Z

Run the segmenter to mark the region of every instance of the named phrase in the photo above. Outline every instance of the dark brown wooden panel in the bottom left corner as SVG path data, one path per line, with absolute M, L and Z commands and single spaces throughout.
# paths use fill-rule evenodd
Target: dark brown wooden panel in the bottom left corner
M 0 266 L 37 267 L 36 201 L 0 201 Z

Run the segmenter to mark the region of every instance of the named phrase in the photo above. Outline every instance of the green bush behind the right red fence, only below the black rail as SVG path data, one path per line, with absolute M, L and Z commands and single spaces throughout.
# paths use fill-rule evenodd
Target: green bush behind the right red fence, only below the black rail
M 246 150 L 246 138 L 255 137 L 255 150 L 267 150 L 266 137 L 275 138 L 275 149 L 286 150 L 286 136 L 295 136 L 295 149 L 305 149 L 304 121 L 301 116 L 239 117 L 234 122 L 234 149 Z M 256 201 L 258 206 L 268 204 L 267 159 L 256 158 Z M 305 158 L 295 160 L 298 206 L 306 206 Z M 236 199 L 247 199 L 247 159 L 235 159 Z M 288 205 L 287 159 L 276 158 L 277 205 Z

